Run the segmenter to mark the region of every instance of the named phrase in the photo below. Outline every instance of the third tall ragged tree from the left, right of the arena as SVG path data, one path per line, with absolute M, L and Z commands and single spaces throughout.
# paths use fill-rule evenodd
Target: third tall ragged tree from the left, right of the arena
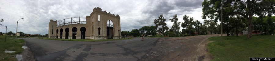
M 186 28 L 185 29 L 185 32 L 190 35 L 190 34 L 193 34 L 193 25 L 195 24 L 195 22 L 193 21 L 193 17 L 190 17 L 189 19 L 189 16 L 183 16 L 183 20 L 184 22 L 182 22 L 182 28 Z

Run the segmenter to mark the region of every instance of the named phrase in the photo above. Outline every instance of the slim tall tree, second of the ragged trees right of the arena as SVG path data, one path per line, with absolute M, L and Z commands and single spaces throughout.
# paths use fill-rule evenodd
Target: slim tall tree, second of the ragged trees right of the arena
M 177 18 L 178 16 L 177 16 L 177 14 L 175 15 L 175 16 L 173 16 L 173 18 L 172 19 L 169 19 L 171 22 L 174 22 L 173 23 L 173 26 L 171 27 L 171 29 L 173 30 L 173 31 L 175 31 L 177 34 L 179 34 L 178 33 L 178 31 L 179 31 L 179 29 L 180 29 L 180 24 L 181 24 L 181 22 L 178 22 L 178 18 Z

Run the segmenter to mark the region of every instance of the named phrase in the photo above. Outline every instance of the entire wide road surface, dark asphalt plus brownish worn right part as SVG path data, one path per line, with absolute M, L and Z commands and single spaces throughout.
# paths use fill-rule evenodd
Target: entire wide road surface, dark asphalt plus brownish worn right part
M 197 49 L 194 48 L 196 45 L 212 36 L 217 35 L 168 38 L 145 37 L 144 41 L 141 41 L 141 38 L 133 38 L 101 42 L 23 39 L 37 61 L 158 61 L 175 59 L 182 61 L 186 60 L 181 58 L 186 57 L 189 51 Z M 169 57 L 169 55 L 175 54 L 178 55 L 178 58 Z M 192 59 L 187 58 L 187 60 Z

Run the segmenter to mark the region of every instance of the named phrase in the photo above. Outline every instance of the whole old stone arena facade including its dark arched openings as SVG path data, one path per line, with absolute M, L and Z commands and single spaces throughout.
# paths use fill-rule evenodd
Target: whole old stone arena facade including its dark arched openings
M 101 11 L 98 7 L 94 8 L 90 16 L 86 16 L 86 24 L 58 26 L 57 22 L 50 20 L 49 38 L 104 40 L 119 39 L 121 35 L 119 15 Z

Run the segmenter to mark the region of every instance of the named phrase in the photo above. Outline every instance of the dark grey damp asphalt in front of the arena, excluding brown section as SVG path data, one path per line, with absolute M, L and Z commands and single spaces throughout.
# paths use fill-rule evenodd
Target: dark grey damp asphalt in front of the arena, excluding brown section
M 159 38 L 79 42 L 23 38 L 37 61 L 137 61 L 150 53 Z

